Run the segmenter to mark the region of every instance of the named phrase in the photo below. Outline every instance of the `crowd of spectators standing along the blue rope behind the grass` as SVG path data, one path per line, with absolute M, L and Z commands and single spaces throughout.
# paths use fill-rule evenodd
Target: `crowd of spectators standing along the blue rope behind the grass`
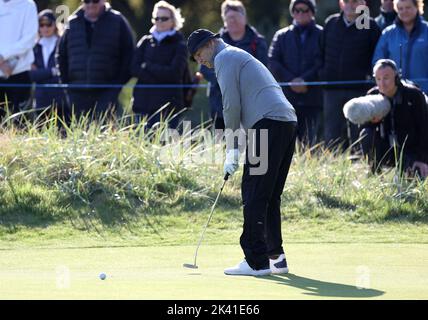
M 316 23 L 315 0 L 292 0 L 288 10 L 293 22 L 278 30 L 269 45 L 249 23 L 242 2 L 226 0 L 219 12 L 224 24 L 219 35 L 227 44 L 260 60 L 278 82 L 288 83 L 283 90 L 297 113 L 298 139 L 309 146 L 321 142 L 328 147 L 354 146 L 361 140 L 361 132 L 373 136 L 373 132 L 379 132 L 379 123 L 391 122 L 391 116 L 377 119 L 377 126 L 370 131 L 344 117 L 345 103 L 365 95 L 373 86 L 369 81 L 373 76 L 378 85 L 373 90 L 380 94 L 392 100 L 396 94 L 412 96 L 409 99 L 412 105 L 418 105 L 418 112 L 406 110 L 410 104 L 396 100 L 393 105 L 400 106 L 397 110 L 403 110 L 409 123 L 418 118 L 414 119 L 418 122 L 416 131 L 407 128 L 401 133 L 403 139 L 411 136 L 412 141 L 416 140 L 414 148 L 426 148 L 413 151 L 419 155 L 417 159 L 409 156 L 413 160 L 409 160 L 408 167 L 415 169 L 415 162 L 428 163 L 428 147 L 420 142 L 426 139 L 428 124 L 426 101 L 422 99 L 428 93 L 424 3 L 382 0 L 381 13 L 375 19 L 361 16 L 357 8 L 365 4 L 364 0 L 338 0 L 339 12 L 328 17 L 322 27 Z M 368 27 L 361 27 L 361 18 L 369 19 Z M 127 19 L 106 0 L 82 0 L 63 32 L 54 12 L 38 13 L 33 0 L 0 0 L 0 119 L 7 110 L 43 112 L 47 108 L 65 121 L 72 116 L 117 115 L 122 112 L 118 99 L 122 86 L 134 77 L 137 85 L 147 85 L 133 90 L 135 118 L 139 121 L 147 117 L 148 127 L 169 118 L 169 125 L 177 127 L 180 111 L 190 107 L 182 85 L 191 83 L 193 74 L 189 71 L 185 36 L 180 31 L 184 22 L 180 9 L 159 1 L 153 8 L 153 27 L 136 44 Z M 379 67 L 380 60 L 390 64 Z M 394 79 L 410 79 L 412 84 L 396 81 L 396 92 L 388 95 L 382 91 L 382 77 L 377 73 L 388 70 L 391 63 L 396 66 L 392 68 Z M 215 73 L 205 66 L 199 71 L 209 84 L 213 127 L 223 129 L 222 96 Z M 311 84 L 320 81 L 323 86 Z M 32 83 L 39 85 L 34 93 L 31 86 L 26 86 Z M 54 84 L 67 88 L 40 86 Z M 419 128 L 421 120 L 425 121 L 423 128 Z M 366 154 L 367 145 L 363 148 Z M 424 166 L 417 167 L 428 174 Z

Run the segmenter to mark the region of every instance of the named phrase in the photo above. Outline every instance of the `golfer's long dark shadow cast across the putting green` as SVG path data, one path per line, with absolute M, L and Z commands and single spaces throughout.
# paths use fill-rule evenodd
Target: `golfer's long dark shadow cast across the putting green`
M 346 284 L 304 278 L 295 274 L 270 275 L 262 279 L 304 290 L 304 295 L 336 298 L 374 298 L 385 294 L 376 289 L 358 289 Z

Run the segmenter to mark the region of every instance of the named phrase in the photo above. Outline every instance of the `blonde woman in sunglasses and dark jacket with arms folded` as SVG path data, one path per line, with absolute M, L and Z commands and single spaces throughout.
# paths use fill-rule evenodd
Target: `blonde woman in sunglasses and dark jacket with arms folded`
M 132 75 L 137 77 L 137 85 L 182 85 L 188 55 L 180 32 L 184 23 L 180 9 L 159 1 L 152 17 L 150 34 L 142 37 L 135 50 Z M 166 118 L 170 118 L 170 127 L 177 127 L 177 113 L 183 107 L 180 87 L 134 89 L 132 110 L 137 118 L 148 117 L 148 127 Z

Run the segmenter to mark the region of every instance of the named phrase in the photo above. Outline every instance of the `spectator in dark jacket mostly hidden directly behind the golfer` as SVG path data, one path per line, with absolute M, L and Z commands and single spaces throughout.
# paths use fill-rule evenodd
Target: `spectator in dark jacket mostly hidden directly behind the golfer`
M 220 37 L 224 42 L 247 51 L 264 65 L 268 63 L 268 46 L 265 38 L 257 30 L 248 25 L 247 13 L 241 1 L 226 0 L 221 6 L 224 28 Z M 215 129 L 224 129 L 223 104 L 220 87 L 213 69 L 201 66 L 201 73 L 210 83 L 209 100 L 211 117 Z

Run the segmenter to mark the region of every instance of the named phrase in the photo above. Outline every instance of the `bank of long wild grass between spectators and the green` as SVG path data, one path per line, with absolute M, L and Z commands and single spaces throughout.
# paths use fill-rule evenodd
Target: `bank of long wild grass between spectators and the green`
M 194 241 L 222 182 L 223 148 L 211 135 L 184 130 L 166 138 L 164 126 L 146 132 L 129 119 L 90 126 L 84 119 L 61 135 L 56 120 L 0 131 L 2 245 L 67 237 L 94 245 Z M 283 195 L 285 233 L 292 241 L 345 241 L 376 226 L 372 240 L 424 242 L 428 183 L 394 173 L 371 175 L 346 153 L 299 149 Z M 214 242 L 239 236 L 239 175 L 220 199 Z

